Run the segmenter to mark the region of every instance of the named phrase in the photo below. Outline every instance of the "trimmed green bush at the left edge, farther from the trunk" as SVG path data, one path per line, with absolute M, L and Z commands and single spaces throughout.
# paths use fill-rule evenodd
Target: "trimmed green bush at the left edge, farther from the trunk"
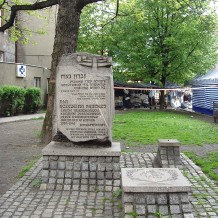
M 25 89 L 16 86 L 3 86 L 0 91 L 1 110 L 5 116 L 23 112 Z

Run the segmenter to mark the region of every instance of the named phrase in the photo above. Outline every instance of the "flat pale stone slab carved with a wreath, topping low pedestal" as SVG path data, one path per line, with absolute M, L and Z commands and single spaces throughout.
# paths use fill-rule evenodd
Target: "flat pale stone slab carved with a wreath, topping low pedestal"
M 124 192 L 191 191 L 190 183 L 177 168 L 123 168 L 121 175 Z

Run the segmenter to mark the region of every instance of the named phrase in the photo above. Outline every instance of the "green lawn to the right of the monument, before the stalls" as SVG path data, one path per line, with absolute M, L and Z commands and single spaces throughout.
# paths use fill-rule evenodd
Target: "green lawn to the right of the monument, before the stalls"
M 171 111 L 116 114 L 113 139 L 127 146 L 157 144 L 158 139 L 178 139 L 182 145 L 218 143 L 218 125 L 193 116 Z

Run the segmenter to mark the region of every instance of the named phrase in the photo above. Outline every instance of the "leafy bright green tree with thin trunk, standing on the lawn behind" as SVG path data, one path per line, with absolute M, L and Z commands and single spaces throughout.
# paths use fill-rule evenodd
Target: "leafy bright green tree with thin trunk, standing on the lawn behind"
M 209 3 L 122 1 L 120 10 L 128 16 L 104 30 L 104 45 L 117 63 L 115 75 L 165 87 L 166 81 L 184 84 L 205 73 L 217 62 L 217 21 Z M 162 92 L 162 106 L 163 101 Z

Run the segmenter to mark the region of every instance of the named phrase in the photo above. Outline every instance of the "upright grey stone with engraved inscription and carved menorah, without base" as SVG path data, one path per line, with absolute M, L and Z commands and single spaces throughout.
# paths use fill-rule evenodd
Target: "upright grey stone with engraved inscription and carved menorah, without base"
M 54 141 L 110 146 L 114 114 L 112 59 L 64 55 L 57 67 Z

